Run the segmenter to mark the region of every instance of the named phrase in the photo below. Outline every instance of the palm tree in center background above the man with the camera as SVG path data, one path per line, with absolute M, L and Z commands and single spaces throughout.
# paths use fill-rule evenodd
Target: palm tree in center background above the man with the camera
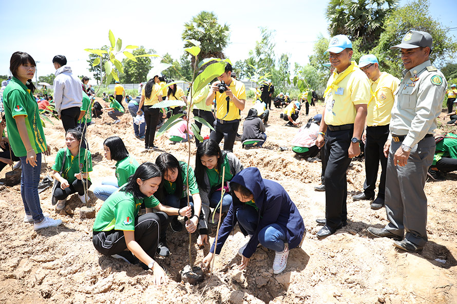
M 217 16 L 213 12 L 201 11 L 192 17 L 190 22 L 184 24 L 182 32 L 183 40 L 194 39 L 200 42 L 200 53 L 198 60 L 205 58 L 225 58 L 222 52 L 229 43 L 230 27 L 227 24 L 220 25 L 217 22 Z M 194 44 L 185 42 L 184 47 L 191 48 Z M 191 57 L 192 66 L 195 63 L 195 57 Z

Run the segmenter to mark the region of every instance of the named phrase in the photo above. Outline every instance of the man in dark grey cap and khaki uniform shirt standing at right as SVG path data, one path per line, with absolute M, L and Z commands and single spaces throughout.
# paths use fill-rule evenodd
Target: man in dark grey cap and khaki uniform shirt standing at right
M 388 156 L 385 202 L 389 224 L 367 229 L 374 236 L 397 239 L 394 246 L 409 252 L 422 250 L 427 242 L 424 186 L 435 152 L 436 117 L 447 88 L 443 73 L 429 59 L 432 42 L 429 33 L 409 31 L 401 44 L 391 47 L 401 49 L 405 70 L 384 146 Z

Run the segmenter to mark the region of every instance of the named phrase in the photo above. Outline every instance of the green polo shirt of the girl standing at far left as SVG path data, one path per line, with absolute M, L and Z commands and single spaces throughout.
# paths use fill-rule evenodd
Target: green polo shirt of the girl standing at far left
M 40 111 L 35 97 L 29 89 L 16 77 L 11 78 L 3 91 L 3 105 L 5 107 L 6 128 L 11 148 L 16 156 L 26 156 L 27 149 L 17 130 L 14 117 L 24 115 L 27 134 L 35 153 L 47 150 Z

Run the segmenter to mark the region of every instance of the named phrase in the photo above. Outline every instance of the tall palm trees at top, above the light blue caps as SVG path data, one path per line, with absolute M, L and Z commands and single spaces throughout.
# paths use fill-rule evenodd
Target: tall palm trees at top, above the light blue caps
M 360 51 L 375 46 L 386 18 L 397 8 L 398 0 L 330 0 L 326 17 L 331 36 L 345 34 L 351 40 L 363 38 Z

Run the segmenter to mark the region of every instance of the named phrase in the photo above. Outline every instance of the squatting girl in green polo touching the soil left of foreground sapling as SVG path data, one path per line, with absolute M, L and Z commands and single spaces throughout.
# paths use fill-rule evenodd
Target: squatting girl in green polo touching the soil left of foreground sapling
M 153 163 L 138 167 L 128 183 L 113 193 L 104 203 L 93 224 L 92 243 L 103 255 L 123 259 L 153 271 L 156 285 L 165 283 L 165 271 L 154 261 L 159 232 L 166 214 L 191 216 L 190 207 L 181 209 L 160 204 L 153 197 L 162 181 L 162 173 Z M 152 200 L 146 200 L 153 197 Z M 139 216 L 141 204 L 146 214 Z M 153 208 L 158 212 L 153 213 Z M 166 226 L 165 226 L 166 227 Z

